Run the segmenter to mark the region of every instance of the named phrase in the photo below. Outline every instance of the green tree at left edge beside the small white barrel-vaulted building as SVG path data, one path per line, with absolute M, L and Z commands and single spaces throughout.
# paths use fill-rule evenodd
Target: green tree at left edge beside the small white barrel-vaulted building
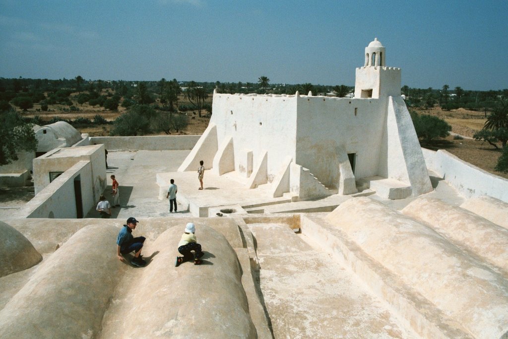
M 32 124 L 25 124 L 13 110 L 0 112 L 0 165 L 18 160 L 17 152 L 35 151 L 37 139 Z

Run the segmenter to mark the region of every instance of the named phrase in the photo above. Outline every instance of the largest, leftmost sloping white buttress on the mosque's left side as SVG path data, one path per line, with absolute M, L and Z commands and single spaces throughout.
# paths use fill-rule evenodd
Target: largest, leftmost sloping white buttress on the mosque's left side
M 201 160 L 204 162 L 205 169 L 210 169 L 217 150 L 217 126 L 210 122 L 201 138 L 178 168 L 178 172 L 197 171 Z

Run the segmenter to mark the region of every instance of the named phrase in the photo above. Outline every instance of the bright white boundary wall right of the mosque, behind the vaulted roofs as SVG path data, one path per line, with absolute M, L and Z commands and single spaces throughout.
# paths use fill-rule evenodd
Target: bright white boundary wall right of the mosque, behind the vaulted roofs
M 436 172 L 466 198 L 488 195 L 508 202 L 508 180 L 491 174 L 439 149 L 422 148 L 427 168 Z

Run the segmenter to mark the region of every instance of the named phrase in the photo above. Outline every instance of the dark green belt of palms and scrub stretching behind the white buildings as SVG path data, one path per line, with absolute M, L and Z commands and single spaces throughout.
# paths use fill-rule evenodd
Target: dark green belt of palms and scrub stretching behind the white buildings
M 186 128 L 189 117 L 209 117 L 211 114 L 211 94 L 218 93 L 258 93 L 294 95 L 312 92 L 318 95 L 351 96 L 354 90 L 346 85 L 270 84 L 267 76 L 257 82 L 196 82 L 177 81 L 162 78 L 159 81 L 104 81 L 85 80 L 81 76 L 74 79 L 5 79 L 0 78 L 0 111 L 2 112 L 2 153 L 0 164 L 15 159 L 16 149 L 35 149 L 35 137 L 28 132 L 27 124 L 45 125 L 55 121 L 67 121 L 76 128 L 112 124 L 110 135 L 136 136 L 153 133 L 171 134 Z M 506 98 L 508 89 L 489 91 L 470 91 L 461 87 L 442 88 L 401 88 L 406 97 L 418 137 L 423 145 L 432 140 L 447 136 L 450 125 L 436 116 L 417 114 L 415 108 L 425 109 L 439 105 L 443 110 L 460 107 L 468 110 L 484 111 L 487 122 L 484 128 L 474 135 L 495 148 L 503 150 L 496 170 L 508 171 L 508 113 Z M 107 121 L 101 114 L 92 119 L 78 117 L 74 120 L 54 116 L 44 119 L 43 113 L 54 111 L 62 116 L 66 113 L 79 113 L 88 104 L 103 111 L 117 111 L 125 108 L 114 121 Z M 16 111 L 14 107 L 17 107 Z M 52 108 L 53 107 L 53 108 Z M 25 117 L 25 112 L 35 108 L 36 114 Z M 29 129 L 31 130 L 31 128 Z M 22 140 L 21 136 L 28 139 Z M 9 142 L 5 141 L 9 140 Z M 11 142 L 12 141 L 12 142 Z M 503 165 L 504 161 L 504 165 Z

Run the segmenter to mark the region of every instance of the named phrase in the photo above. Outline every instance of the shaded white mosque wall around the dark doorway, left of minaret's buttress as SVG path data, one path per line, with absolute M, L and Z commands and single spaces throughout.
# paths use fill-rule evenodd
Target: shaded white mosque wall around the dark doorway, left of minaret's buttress
M 386 100 L 301 96 L 296 163 L 332 187 L 339 176 L 337 149 L 342 148 L 357 153 L 357 179 L 376 175 L 385 121 Z

